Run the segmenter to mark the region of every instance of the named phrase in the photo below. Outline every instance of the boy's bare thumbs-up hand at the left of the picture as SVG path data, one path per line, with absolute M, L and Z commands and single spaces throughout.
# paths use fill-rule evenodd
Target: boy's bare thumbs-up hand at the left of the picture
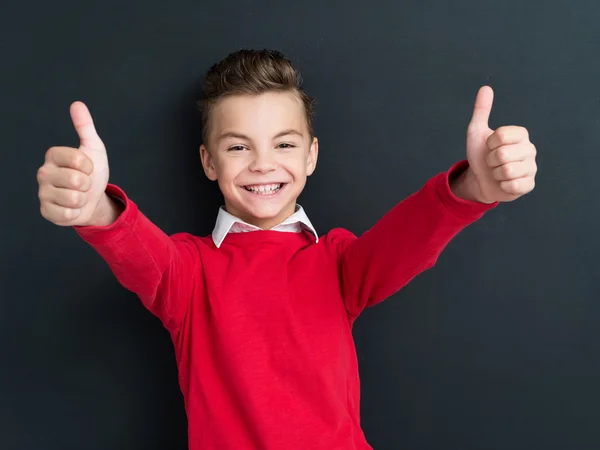
M 42 216 L 56 225 L 93 224 L 108 184 L 108 158 L 88 108 L 75 102 L 71 119 L 79 148 L 51 147 L 37 171 Z

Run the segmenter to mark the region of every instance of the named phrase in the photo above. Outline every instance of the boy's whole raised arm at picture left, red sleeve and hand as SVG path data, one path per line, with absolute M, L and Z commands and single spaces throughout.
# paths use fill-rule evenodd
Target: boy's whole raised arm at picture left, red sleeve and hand
M 37 179 L 40 211 L 71 226 L 108 263 L 119 282 L 136 293 L 169 331 L 176 331 L 200 271 L 187 234 L 167 236 L 117 186 L 108 183 L 106 148 L 87 107 L 71 105 L 79 148 L 51 147 Z

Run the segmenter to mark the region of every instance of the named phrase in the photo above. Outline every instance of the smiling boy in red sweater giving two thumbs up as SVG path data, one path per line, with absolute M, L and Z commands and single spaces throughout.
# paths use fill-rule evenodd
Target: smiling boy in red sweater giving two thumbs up
M 498 202 L 533 189 L 535 147 L 524 128 L 488 128 L 492 100 L 481 88 L 465 161 L 360 238 L 317 236 L 296 204 L 318 156 L 311 98 L 284 55 L 241 50 L 204 82 L 200 158 L 225 203 L 211 236 L 165 235 L 108 183 L 80 102 L 80 147 L 50 148 L 38 171 L 41 213 L 74 227 L 169 331 L 190 449 L 370 449 L 354 321 Z

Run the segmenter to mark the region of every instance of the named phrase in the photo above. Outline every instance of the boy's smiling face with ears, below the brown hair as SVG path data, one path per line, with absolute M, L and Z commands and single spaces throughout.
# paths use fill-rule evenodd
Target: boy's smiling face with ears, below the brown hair
M 200 147 L 202 165 L 218 181 L 229 213 L 263 229 L 294 213 L 315 170 L 318 141 L 311 141 L 293 93 L 221 99 L 211 112 L 208 141 Z

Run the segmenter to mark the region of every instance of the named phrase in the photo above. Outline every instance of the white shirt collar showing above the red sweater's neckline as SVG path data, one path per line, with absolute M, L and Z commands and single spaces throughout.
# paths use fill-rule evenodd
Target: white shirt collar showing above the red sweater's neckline
M 273 231 L 290 233 L 299 233 L 303 229 L 311 232 L 314 235 L 316 242 L 319 242 L 319 235 L 317 234 L 317 231 L 300 205 L 296 205 L 296 212 L 294 212 L 294 214 L 285 219 L 279 225 L 271 228 Z M 225 240 L 225 236 L 227 236 L 228 233 L 243 233 L 257 230 L 261 230 L 261 228 L 244 222 L 243 220 L 225 211 L 225 208 L 221 206 L 219 208 L 219 214 L 217 215 L 215 228 L 212 232 L 212 239 L 218 248 L 221 246 L 223 240 Z

